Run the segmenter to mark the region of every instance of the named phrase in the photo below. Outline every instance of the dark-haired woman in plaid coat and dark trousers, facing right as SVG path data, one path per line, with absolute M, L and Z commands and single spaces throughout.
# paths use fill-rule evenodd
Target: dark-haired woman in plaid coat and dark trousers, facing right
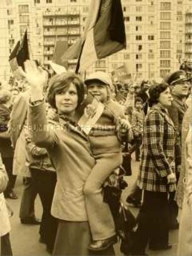
M 151 109 L 144 121 L 139 188 L 144 190 L 143 205 L 137 216 L 138 227 L 132 255 L 171 248 L 168 243 L 168 195 L 176 189 L 174 144 L 176 130 L 167 107 L 171 93 L 166 83 L 149 89 Z

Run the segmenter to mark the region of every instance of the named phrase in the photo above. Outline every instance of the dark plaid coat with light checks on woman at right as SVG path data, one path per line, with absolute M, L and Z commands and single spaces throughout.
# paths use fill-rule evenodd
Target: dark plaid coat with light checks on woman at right
M 161 104 L 151 107 L 144 121 L 139 188 L 147 191 L 168 192 L 176 184 L 168 184 L 167 176 L 174 168 L 176 129 Z

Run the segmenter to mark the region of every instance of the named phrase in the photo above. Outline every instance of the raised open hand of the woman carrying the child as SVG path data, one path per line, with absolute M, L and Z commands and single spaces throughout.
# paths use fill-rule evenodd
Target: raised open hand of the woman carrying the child
M 43 99 L 43 88 L 47 84 L 48 73 L 31 60 L 24 62 L 24 70 L 21 73 L 31 87 L 31 101 Z

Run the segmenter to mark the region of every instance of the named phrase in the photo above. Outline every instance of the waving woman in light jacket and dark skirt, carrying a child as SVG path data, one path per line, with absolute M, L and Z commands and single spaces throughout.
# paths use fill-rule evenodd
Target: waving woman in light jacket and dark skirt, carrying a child
M 96 161 L 89 137 L 75 117 L 85 97 L 85 85 L 75 73 L 62 73 L 51 78 L 48 102 L 56 109 L 58 122 L 48 122 L 43 100 L 46 73 L 36 67 L 34 61 L 26 61 L 23 75 L 31 86 L 28 121 L 33 141 L 46 148 L 57 174 L 51 213 L 59 223 L 53 255 L 89 255 L 91 233 L 83 189 Z M 127 127 L 124 120 L 119 125 Z M 105 225 L 102 228 L 105 233 Z M 113 224 L 111 229 L 114 230 L 112 238 L 104 237 L 99 250 L 115 243 Z

